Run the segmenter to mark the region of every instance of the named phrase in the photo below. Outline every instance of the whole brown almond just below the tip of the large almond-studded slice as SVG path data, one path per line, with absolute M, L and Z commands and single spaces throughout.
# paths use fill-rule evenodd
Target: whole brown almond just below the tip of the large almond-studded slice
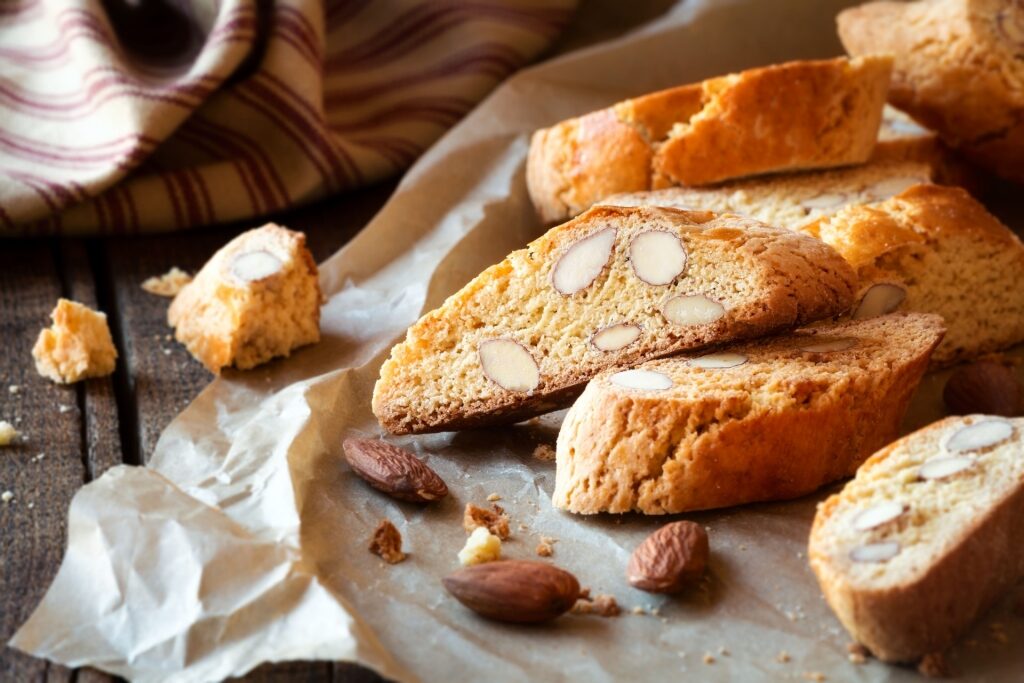
M 444 480 L 404 449 L 372 438 L 345 439 L 342 449 L 352 470 L 391 498 L 432 503 L 447 496 Z

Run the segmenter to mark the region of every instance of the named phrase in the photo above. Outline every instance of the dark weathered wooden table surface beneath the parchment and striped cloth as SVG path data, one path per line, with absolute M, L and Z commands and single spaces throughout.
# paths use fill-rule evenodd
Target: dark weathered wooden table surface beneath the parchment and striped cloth
M 370 220 L 394 185 L 337 196 L 269 219 L 304 231 L 313 256 L 323 261 Z M 114 465 L 143 464 L 164 427 L 211 379 L 168 336 L 169 300 L 142 291 L 139 284 L 172 266 L 195 272 L 220 246 L 256 224 L 127 239 L 0 241 L 0 420 L 14 423 L 28 437 L 24 444 L 0 450 L 0 492 L 14 495 L 0 503 L 3 643 L 56 573 L 75 492 Z M 36 373 L 32 346 L 61 296 L 108 313 L 120 354 L 113 376 L 59 386 Z M 9 647 L 0 651 L 0 681 L 113 680 Z M 353 665 L 317 661 L 265 666 L 244 680 L 381 679 Z

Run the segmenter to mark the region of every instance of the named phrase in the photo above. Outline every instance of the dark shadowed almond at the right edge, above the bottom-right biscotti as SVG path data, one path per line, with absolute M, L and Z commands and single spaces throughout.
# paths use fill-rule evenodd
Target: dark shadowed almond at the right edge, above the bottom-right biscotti
M 954 372 L 942 390 L 950 415 L 1001 415 L 1016 417 L 1024 408 L 1024 387 L 1011 368 L 979 360 Z

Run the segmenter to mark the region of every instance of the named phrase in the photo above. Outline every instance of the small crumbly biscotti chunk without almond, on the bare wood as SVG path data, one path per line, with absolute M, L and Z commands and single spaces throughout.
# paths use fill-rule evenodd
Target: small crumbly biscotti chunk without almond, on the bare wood
M 40 375 L 71 384 L 114 372 L 118 351 L 104 313 L 60 299 L 50 317 L 53 326 L 39 333 L 32 348 Z

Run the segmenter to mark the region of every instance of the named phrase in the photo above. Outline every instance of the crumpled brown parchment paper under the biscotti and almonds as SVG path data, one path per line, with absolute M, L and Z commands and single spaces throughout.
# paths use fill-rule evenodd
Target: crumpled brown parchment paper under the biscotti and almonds
M 639 33 L 507 82 L 323 264 L 330 300 L 318 345 L 225 374 L 168 427 L 148 468 L 115 468 L 76 496 L 63 564 L 12 644 L 140 681 L 215 680 L 293 658 L 353 659 L 402 682 L 915 678 L 847 660 L 849 637 L 807 565 L 814 506 L 838 486 L 686 515 L 710 528 L 709 579 L 667 599 L 624 580 L 632 549 L 666 518 L 552 510 L 554 463 L 531 454 L 554 443 L 562 414 L 398 440 L 447 481 L 440 505 L 395 503 L 341 460 L 345 436 L 380 433 L 370 394 L 404 329 L 542 231 L 523 181 L 529 131 L 656 88 L 838 54 L 833 17 L 843 4 L 687 2 Z M 941 415 L 942 380 L 926 380 L 907 428 Z M 462 508 L 492 493 L 513 520 L 506 556 L 534 557 L 539 536 L 554 537 L 553 560 L 614 595 L 625 613 L 512 627 L 447 596 L 440 579 L 458 567 Z M 383 518 L 404 537 L 401 564 L 367 551 Z M 953 651 L 970 680 L 1020 680 L 1024 625 L 1010 604 Z M 782 651 L 790 661 L 778 660 Z

